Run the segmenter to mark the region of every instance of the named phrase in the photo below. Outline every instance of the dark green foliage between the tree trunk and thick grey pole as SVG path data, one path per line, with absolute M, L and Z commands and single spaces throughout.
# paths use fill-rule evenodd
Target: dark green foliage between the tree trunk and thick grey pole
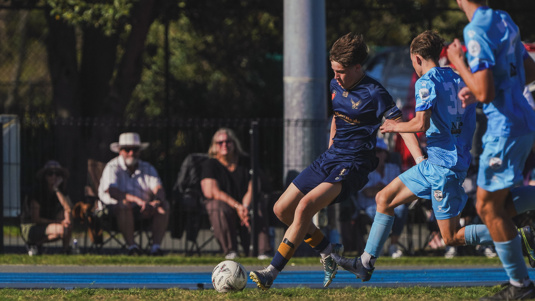
M 169 24 L 170 99 L 165 110 L 165 26 L 147 37 L 144 71 L 128 117 L 282 115 L 282 1 L 231 6 L 180 2 Z

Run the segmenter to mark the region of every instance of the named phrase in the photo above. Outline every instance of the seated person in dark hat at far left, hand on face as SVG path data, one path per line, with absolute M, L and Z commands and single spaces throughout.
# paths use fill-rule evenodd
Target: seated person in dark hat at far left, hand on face
M 37 171 L 37 187 L 29 196 L 29 212 L 23 219 L 21 234 L 29 245 L 30 256 L 40 254 L 43 243 L 62 239 L 63 251 L 70 253 L 71 200 L 65 195 L 67 169 L 48 161 Z

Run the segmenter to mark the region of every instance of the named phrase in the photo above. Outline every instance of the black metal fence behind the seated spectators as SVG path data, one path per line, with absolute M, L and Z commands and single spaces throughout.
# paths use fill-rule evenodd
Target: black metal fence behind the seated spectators
M 75 205 L 71 238 L 66 242 L 73 245 L 74 252 L 126 253 L 124 236 L 120 234 L 116 220 L 106 220 L 110 212 L 95 204 L 98 192 L 95 183 L 100 181 L 98 166 L 102 168 L 118 154 L 110 150 L 110 144 L 118 141 L 121 133 L 139 133 L 142 142 L 149 142 L 141 152 L 141 159 L 153 165 L 163 183 L 170 203 L 169 226 L 165 232 L 162 249 L 179 253 L 220 253 L 221 246 L 214 237 L 207 210 L 202 202 L 192 200 L 192 190 L 180 189 L 175 184 L 184 160 L 191 154 L 205 155 L 213 134 L 219 128 L 232 129 L 242 148 L 253 158 L 250 162 L 257 167 L 255 195 L 258 211 L 264 218 L 256 220 L 257 233 L 261 229 L 268 237 L 271 248 L 282 240 L 285 225 L 273 213 L 273 204 L 286 188 L 283 183 L 283 129 L 291 122 L 293 130 L 310 126 L 307 121 L 296 122 L 282 119 L 170 119 L 170 120 L 113 120 L 113 119 L 49 119 L 25 118 L 16 115 L 0 115 L 3 123 L 4 153 L 4 251 L 24 253 L 30 245 L 27 226 L 31 215 L 28 203 L 38 183 L 36 174 L 51 159 L 68 169 L 70 176 L 64 183 L 64 192 Z M 315 121 L 315 127 L 318 126 Z M 325 121 L 325 135 L 328 122 Z M 256 141 L 255 141 L 256 139 Z M 251 143 L 252 142 L 252 143 Z M 251 149 L 251 145 L 256 148 Z M 326 148 L 327 146 L 325 146 Z M 193 156 L 193 155 L 192 155 Z M 393 156 L 395 157 L 395 156 Z M 95 172 L 97 171 L 97 172 Z M 189 179 L 189 174 L 184 179 Z M 19 180 L 17 180 L 19 179 Z M 198 191 L 197 194 L 202 193 Z M 467 191 L 468 192 L 468 191 Z M 198 196 L 198 195 L 197 195 Z M 463 214 L 471 217 L 473 199 Z M 365 236 L 371 220 L 365 212 L 354 205 L 353 199 L 329 206 L 318 213 L 315 222 L 333 242 L 347 244 L 348 251 L 360 252 L 364 248 Z M 83 206 L 80 206 L 83 205 Z M 431 210 L 432 211 L 432 210 Z M 399 245 L 405 254 L 418 254 L 427 248 L 438 229 L 429 222 L 429 204 L 416 202 L 408 209 L 408 222 L 403 228 Z M 26 214 L 25 214 L 26 213 Z M 29 213 L 29 215 L 27 214 Z M 26 218 L 26 220 L 24 220 Z M 470 219 L 468 219 L 470 220 Z M 146 223 L 143 225 L 143 223 Z M 144 250 L 150 248 L 150 222 L 136 224 L 135 241 Z M 255 221 L 251 221 L 255 223 Z M 21 226 L 22 225 L 22 226 Z M 99 229 L 102 232 L 99 232 Z M 26 232 L 25 232 L 26 231 Z M 243 234 L 243 233 L 242 233 Z M 250 233 L 242 236 L 249 239 Z M 253 235 L 254 246 L 265 237 Z M 256 240 L 256 242 L 255 242 Z M 244 241 L 243 241 L 244 242 Z M 248 244 L 248 242 L 247 242 Z M 249 253 L 247 244 L 239 252 Z M 256 248 L 256 247 L 255 247 Z M 253 248 L 251 254 L 258 249 Z M 266 248 L 264 248 L 265 250 Z M 42 252 L 61 252 L 62 241 L 45 243 Z M 442 249 L 443 250 L 443 249 Z M 432 252 L 440 252 L 433 251 Z M 475 251 L 467 251 L 473 254 Z M 297 254 L 314 254 L 304 246 Z

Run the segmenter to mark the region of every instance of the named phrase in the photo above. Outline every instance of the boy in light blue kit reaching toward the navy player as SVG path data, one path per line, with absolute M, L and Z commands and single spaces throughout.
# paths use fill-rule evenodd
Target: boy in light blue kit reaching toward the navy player
M 393 124 L 386 120 L 381 133 L 426 132 L 429 158 L 394 179 L 376 196 L 377 214 L 361 257 L 331 254 L 343 268 L 362 281 L 371 278 L 375 261 L 390 234 L 394 208 L 418 198 L 431 199 L 440 233 L 449 246 L 488 245 L 485 225 L 461 227 L 460 213 L 467 202 L 462 183 L 470 166 L 472 136 L 476 128 L 476 104 L 461 106 L 457 92 L 465 87 L 461 78 L 438 60 L 444 39 L 427 30 L 411 44 L 416 73 L 416 117 Z M 518 248 L 520 249 L 520 248 Z

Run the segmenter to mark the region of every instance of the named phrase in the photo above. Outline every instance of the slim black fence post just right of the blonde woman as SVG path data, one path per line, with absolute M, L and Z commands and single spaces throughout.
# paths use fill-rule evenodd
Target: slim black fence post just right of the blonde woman
M 251 256 L 258 256 L 258 121 L 251 122 L 251 181 L 253 182 L 253 193 L 251 195 L 251 207 L 249 215 L 251 217 L 251 244 L 249 250 Z

